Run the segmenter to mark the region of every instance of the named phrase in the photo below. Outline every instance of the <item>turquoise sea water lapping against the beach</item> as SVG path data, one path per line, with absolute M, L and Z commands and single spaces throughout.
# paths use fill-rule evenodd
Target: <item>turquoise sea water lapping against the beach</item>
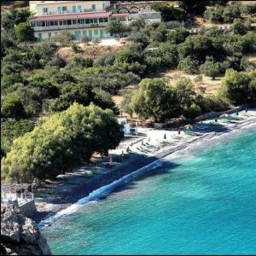
M 54 254 L 255 254 L 256 132 L 212 143 L 43 228 Z

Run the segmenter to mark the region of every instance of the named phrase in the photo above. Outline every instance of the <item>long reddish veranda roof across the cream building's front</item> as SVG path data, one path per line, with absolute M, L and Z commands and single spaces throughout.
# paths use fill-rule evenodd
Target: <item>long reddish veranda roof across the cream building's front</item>
M 88 13 L 75 13 L 75 14 L 62 14 L 62 15 L 42 15 L 34 16 L 31 21 L 47 21 L 47 20 L 73 20 L 73 19 L 90 19 L 90 18 L 107 18 L 111 12 L 88 12 Z

